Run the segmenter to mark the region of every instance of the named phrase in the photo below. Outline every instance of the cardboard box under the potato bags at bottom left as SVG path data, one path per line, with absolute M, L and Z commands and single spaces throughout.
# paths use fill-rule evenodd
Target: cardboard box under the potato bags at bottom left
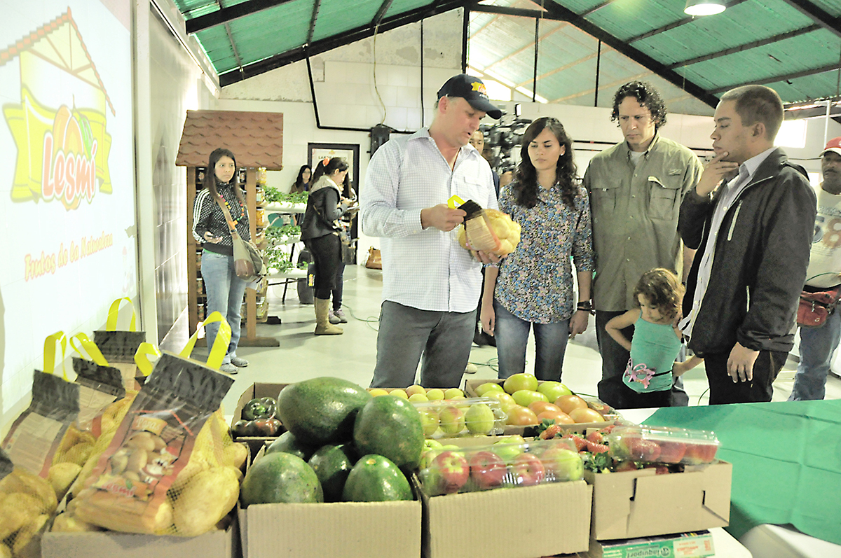
M 43 558 L 235 558 L 239 552 L 236 519 L 225 531 L 211 531 L 198 537 L 154 534 L 52 533 L 41 539 Z

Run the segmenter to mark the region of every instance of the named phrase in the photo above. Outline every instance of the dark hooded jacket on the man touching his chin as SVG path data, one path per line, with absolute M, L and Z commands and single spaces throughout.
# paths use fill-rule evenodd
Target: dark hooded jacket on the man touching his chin
M 727 210 L 718 232 L 710 282 L 689 346 L 700 356 L 751 350 L 788 352 L 794 346 L 798 299 L 806 280 L 817 200 L 801 166 L 776 149 L 759 165 Z M 687 193 L 678 230 L 697 249 L 686 284 L 688 316 L 698 267 L 722 187 L 708 196 Z

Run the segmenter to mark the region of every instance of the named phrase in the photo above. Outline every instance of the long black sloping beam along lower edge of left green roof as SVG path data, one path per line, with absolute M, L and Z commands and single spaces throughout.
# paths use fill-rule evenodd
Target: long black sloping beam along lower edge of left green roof
M 435 3 L 430 6 L 415 8 L 410 12 L 399 13 L 389 18 L 383 18 L 378 27 L 365 24 L 357 27 L 356 29 L 349 29 L 336 36 L 317 40 L 309 45 L 303 45 L 295 49 L 287 50 L 279 55 L 270 56 L 262 61 L 257 61 L 243 66 L 242 71 L 231 70 L 220 74 L 220 87 L 225 87 L 235 82 L 241 82 L 251 76 L 257 76 L 281 66 L 286 66 L 292 62 L 304 60 L 309 56 L 320 55 L 322 52 L 326 52 L 327 50 L 332 50 L 344 45 L 350 45 L 357 40 L 367 39 L 368 37 L 373 36 L 375 27 L 377 33 L 383 33 L 402 25 L 417 23 L 421 21 L 421 19 L 429 18 L 437 13 L 449 12 L 450 10 L 456 8 L 464 8 L 465 4 L 465 0 L 444 0 L 443 2 Z

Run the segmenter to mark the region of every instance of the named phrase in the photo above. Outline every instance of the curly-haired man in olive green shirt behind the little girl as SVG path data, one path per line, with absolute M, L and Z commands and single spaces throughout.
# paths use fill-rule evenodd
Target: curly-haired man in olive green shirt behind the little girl
M 638 304 L 633 288 L 655 267 L 689 271 L 694 252 L 681 250 L 677 232 L 680 203 L 701 177 L 701 161 L 685 146 L 660 137 L 666 107 L 646 82 L 629 82 L 613 99 L 611 120 L 625 141 L 595 155 L 584 174 L 593 213 L 595 333 L 601 353 L 599 398 L 615 408 L 648 407 L 622 383 L 628 351 L 605 331 L 605 324 Z M 633 326 L 623 329 L 632 338 Z M 672 405 L 686 405 L 680 378 Z

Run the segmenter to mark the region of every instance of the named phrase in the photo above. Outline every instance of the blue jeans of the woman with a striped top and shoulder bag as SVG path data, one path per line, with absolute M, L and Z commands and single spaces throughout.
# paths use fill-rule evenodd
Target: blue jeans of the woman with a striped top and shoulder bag
M 242 297 L 246 294 L 247 283 L 236 276 L 234 256 L 217 254 L 209 250 L 202 250 L 202 277 L 204 278 L 204 292 L 208 297 L 207 315 L 219 312 L 230 325 L 230 344 L 225 360 L 222 361 L 222 364 L 228 364 L 230 359 L 236 356 L 236 347 L 240 343 L 240 309 Z M 204 328 L 208 350 L 213 347 L 218 331 L 219 322 L 208 324 Z

